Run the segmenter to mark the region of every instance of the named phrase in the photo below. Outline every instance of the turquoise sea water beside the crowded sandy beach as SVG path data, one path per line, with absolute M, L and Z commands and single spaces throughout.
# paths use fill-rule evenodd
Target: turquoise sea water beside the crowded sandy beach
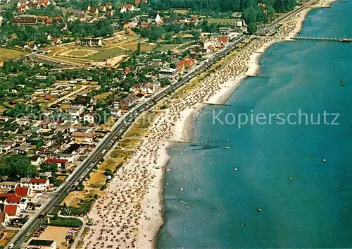
M 301 35 L 352 37 L 352 2 L 311 11 Z M 352 247 L 352 44 L 275 44 L 260 75 L 241 83 L 229 107 L 203 109 L 193 143 L 170 150 L 157 248 Z M 322 124 L 212 122 L 213 111 L 224 121 L 298 109 Z M 325 125 L 324 111 L 340 114 L 339 125 Z

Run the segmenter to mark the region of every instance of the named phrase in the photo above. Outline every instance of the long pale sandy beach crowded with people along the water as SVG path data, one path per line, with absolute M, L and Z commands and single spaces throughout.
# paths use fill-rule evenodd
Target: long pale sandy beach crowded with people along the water
M 301 30 L 306 14 L 327 6 L 320 0 L 283 21 L 279 32 L 258 37 L 236 54 L 230 63 L 203 79 L 186 97 L 168 99 L 168 108 L 154 121 L 134 155 L 118 171 L 108 190 L 96 201 L 89 217 L 94 226 L 83 248 L 154 248 L 156 234 L 163 224 L 163 177 L 168 148 L 175 142 L 189 142 L 194 120 L 204 104 L 223 103 L 246 76 L 258 73 L 258 60 L 275 42 L 290 40 Z

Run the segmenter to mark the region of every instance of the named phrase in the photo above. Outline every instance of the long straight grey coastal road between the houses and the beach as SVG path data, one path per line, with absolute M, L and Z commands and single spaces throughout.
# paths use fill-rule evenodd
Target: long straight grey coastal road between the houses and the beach
M 160 101 L 163 99 L 165 96 L 168 95 L 168 93 L 173 92 L 176 90 L 178 87 L 181 87 L 185 83 L 189 82 L 191 78 L 194 78 L 194 76 L 198 75 L 201 73 L 201 71 L 205 70 L 211 64 L 213 64 L 215 61 L 217 61 L 220 56 L 223 56 L 227 54 L 230 50 L 234 49 L 234 47 L 237 46 L 237 44 L 243 42 L 248 36 L 243 36 L 239 37 L 238 40 L 230 44 L 228 47 L 225 49 L 222 49 L 221 51 L 218 51 L 217 54 L 215 54 L 212 58 L 208 59 L 204 63 L 202 63 L 200 66 L 198 66 L 194 71 L 187 73 L 187 75 L 184 75 L 183 78 L 181 78 L 179 81 L 176 83 L 170 85 L 170 87 L 166 88 L 165 90 L 161 91 L 160 93 L 154 95 L 149 99 L 147 102 L 144 102 L 144 104 L 141 104 L 139 107 L 135 108 L 134 110 L 130 111 L 125 118 L 118 123 L 115 128 L 111 131 L 111 133 L 108 133 L 102 140 L 99 142 L 98 145 L 96 145 L 96 148 L 92 151 L 91 154 L 87 157 L 87 159 L 82 162 L 82 165 L 79 166 L 71 175 L 68 180 L 63 183 L 63 186 L 58 190 L 54 195 L 51 196 L 51 200 L 44 205 L 41 209 L 39 209 L 39 212 L 37 212 L 30 221 L 28 221 L 27 224 L 21 229 L 8 243 L 8 245 L 11 245 L 13 243 L 13 248 L 18 249 L 22 245 L 22 243 L 25 242 L 26 236 L 25 233 L 30 233 L 32 234 L 35 229 L 40 224 L 40 217 L 46 216 L 46 214 L 49 214 L 51 212 L 51 209 L 53 209 L 56 205 L 58 205 L 63 198 L 65 198 L 66 195 L 70 192 L 70 189 L 75 186 L 75 183 L 78 178 L 86 174 L 88 167 L 96 162 L 98 158 L 101 156 L 103 153 L 103 150 L 107 151 L 108 148 L 110 148 L 114 142 L 122 138 L 122 135 L 125 133 L 125 131 L 134 123 L 134 121 L 137 120 L 139 114 L 141 114 L 143 111 L 147 111 L 151 109 L 156 102 Z M 6 246 L 8 248 L 8 246 Z

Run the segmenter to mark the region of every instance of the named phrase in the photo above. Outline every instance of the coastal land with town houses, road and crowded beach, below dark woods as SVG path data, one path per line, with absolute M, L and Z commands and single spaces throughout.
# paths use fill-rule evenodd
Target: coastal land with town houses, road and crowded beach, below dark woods
M 0 0 L 0 248 L 153 248 L 168 148 L 326 4 Z

